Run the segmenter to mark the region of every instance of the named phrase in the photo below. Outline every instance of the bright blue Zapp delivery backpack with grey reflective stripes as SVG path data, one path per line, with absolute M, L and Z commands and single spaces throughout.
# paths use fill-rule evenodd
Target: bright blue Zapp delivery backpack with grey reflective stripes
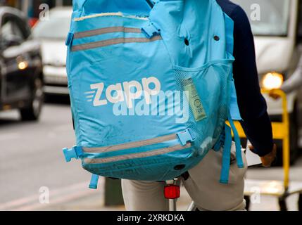
M 63 153 L 82 160 L 90 188 L 99 176 L 170 180 L 220 149 L 227 184 L 232 131 L 244 167 L 233 27 L 215 0 L 73 1 L 66 45 L 77 143 Z

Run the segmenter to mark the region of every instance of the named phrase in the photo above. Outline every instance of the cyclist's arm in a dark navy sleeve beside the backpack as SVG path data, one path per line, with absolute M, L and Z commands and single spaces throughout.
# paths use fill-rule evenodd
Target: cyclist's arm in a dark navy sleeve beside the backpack
M 232 11 L 234 20 L 234 82 L 237 91 L 241 126 L 259 156 L 273 150 L 272 125 L 265 98 L 260 93 L 256 67 L 255 46 L 251 25 L 244 10 L 237 6 Z

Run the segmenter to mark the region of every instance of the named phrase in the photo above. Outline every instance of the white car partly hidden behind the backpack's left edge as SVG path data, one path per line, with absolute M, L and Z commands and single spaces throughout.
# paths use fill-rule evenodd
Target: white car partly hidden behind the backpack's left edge
M 33 27 L 33 37 L 42 45 L 44 65 L 44 93 L 68 95 L 66 74 L 66 46 L 71 14 L 71 7 L 51 9 L 49 20 L 39 20 Z

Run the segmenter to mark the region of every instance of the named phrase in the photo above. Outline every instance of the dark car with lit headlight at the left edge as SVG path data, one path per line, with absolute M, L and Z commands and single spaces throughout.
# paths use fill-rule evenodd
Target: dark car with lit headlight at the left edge
M 0 7 L 0 26 L 0 110 L 18 109 L 22 120 L 38 120 L 43 105 L 39 43 L 15 8 Z

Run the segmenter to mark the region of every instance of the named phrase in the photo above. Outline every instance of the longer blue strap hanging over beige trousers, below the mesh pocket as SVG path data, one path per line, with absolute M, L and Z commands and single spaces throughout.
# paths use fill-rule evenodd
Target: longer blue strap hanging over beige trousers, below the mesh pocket
M 228 184 L 229 167 L 231 161 L 232 133 L 231 128 L 225 124 L 225 146 L 222 151 L 222 166 L 220 174 L 220 183 Z

